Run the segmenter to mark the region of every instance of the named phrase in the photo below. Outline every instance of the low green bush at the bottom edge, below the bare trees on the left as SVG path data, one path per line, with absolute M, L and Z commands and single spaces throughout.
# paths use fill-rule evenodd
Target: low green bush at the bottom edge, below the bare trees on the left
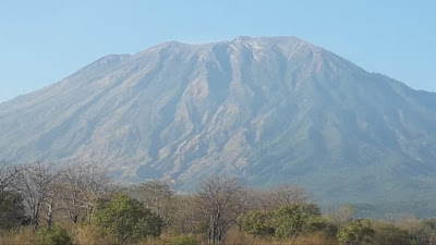
M 56 224 L 51 229 L 45 228 L 36 232 L 35 245 L 73 245 L 73 241 L 66 230 Z

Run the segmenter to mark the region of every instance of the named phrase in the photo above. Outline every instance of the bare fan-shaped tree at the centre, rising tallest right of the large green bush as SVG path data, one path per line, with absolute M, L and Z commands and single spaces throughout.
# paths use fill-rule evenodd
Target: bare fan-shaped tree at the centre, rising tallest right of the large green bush
M 243 188 L 238 179 L 211 177 L 204 181 L 196 194 L 198 208 L 204 220 L 207 220 L 207 238 L 209 244 L 225 241 L 226 231 L 241 213 Z

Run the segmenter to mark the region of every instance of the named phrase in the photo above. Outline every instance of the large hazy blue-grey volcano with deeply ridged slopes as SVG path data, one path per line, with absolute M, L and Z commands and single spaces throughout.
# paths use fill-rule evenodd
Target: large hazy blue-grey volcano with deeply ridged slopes
M 0 135 L 12 162 L 96 160 L 182 189 L 227 174 L 326 203 L 436 194 L 436 94 L 295 37 L 107 56 L 1 103 Z

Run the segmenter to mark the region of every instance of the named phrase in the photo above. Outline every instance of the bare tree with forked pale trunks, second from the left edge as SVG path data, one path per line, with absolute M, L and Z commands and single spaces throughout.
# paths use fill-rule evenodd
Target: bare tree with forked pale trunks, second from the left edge
M 52 211 L 55 207 L 55 186 L 59 172 L 52 164 L 37 162 L 27 166 L 19 172 L 17 188 L 21 193 L 25 207 L 31 216 L 31 224 L 34 230 L 39 225 L 43 206 L 48 205 L 48 224 L 52 223 Z

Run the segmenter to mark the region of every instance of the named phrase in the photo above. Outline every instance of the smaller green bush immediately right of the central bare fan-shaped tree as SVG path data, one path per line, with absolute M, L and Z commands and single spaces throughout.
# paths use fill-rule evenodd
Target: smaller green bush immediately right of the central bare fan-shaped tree
M 242 230 L 252 235 L 272 236 L 276 232 L 272 223 L 274 213 L 271 211 L 252 210 L 242 213 L 238 221 Z

